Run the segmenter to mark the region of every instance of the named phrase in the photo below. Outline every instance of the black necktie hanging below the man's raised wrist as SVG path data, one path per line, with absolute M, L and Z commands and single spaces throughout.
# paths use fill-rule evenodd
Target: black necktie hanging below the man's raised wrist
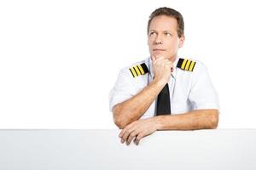
M 170 115 L 171 114 L 171 103 L 170 103 L 170 92 L 168 83 L 166 86 L 160 91 L 157 97 L 157 105 L 156 105 L 156 116 L 160 115 Z

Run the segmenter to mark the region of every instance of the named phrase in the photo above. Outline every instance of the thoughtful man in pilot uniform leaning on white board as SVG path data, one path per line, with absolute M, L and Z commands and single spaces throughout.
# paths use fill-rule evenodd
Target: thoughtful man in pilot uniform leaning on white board
M 119 72 L 109 101 L 122 143 L 139 144 L 156 130 L 218 127 L 218 94 L 206 66 L 177 56 L 183 30 L 179 12 L 157 8 L 148 20 L 150 57 Z

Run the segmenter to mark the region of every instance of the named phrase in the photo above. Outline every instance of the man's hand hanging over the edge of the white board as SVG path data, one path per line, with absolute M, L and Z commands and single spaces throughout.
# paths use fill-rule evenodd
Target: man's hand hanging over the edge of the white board
M 154 117 L 131 122 L 121 131 L 121 133 L 119 133 L 121 143 L 123 144 L 126 141 L 126 144 L 129 145 L 131 141 L 135 139 L 135 143 L 139 144 L 143 137 L 148 136 L 157 130 L 156 126 L 157 122 Z

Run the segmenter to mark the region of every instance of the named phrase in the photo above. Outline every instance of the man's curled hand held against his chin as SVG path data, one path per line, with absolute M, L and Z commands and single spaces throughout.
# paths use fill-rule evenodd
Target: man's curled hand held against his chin
M 152 56 L 153 67 L 154 67 L 154 80 L 163 82 L 166 85 L 172 74 L 173 64 L 172 61 L 166 59 L 163 56 L 155 57 Z

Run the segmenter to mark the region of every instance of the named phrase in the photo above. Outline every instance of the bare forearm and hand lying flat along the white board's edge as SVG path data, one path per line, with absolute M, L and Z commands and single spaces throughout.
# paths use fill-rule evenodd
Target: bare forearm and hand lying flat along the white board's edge
M 131 122 L 120 133 L 121 142 L 139 144 L 143 137 L 157 130 L 196 130 L 218 127 L 218 110 L 195 110 L 181 115 L 154 116 Z

